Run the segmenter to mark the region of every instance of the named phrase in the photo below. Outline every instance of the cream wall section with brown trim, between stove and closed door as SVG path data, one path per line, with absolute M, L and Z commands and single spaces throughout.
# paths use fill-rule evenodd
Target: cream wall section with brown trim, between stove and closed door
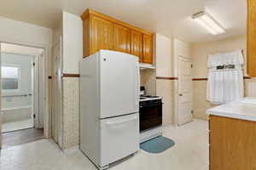
M 172 39 L 155 34 L 154 36 L 154 58 L 156 77 L 173 77 L 173 55 Z M 156 79 L 156 95 L 163 98 L 163 125 L 174 122 L 173 115 L 173 80 Z

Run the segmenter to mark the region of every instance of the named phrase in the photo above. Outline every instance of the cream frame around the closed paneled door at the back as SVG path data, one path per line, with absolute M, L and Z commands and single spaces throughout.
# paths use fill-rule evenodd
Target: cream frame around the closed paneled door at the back
M 183 124 L 180 124 L 179 123 L 179 94 L 180 94 L 180 69 L 182 69 L 182 68 L 180 68 L 180 64 L 179 64 L 179 62 L 180 62 L 180 60 L 181 59 L 185 59 L 185 60 L 188 60 L 189 62 L 190 62 L 190 64 L 192 63 L 192 61 L 191 61 L 191 58 L 189 58 L 189 57 L 183 57 L 182 55 L 178 55 L 177 56 L 177 96 L 176 96 L 176 99 L 177 99 L 177 105 L 176 105 L 176 122 L 177 122 L 177 126 L 182 126 Z M 192 70 L 190 70 L 190 73 L 191 73 L 191 71 Z M 192 91 L 192 78 L 191 78 L 191 111 L 192 111 L 192 108 L 193 108 L 193 103 L 192 103 L 192 93 L 193 93 L 193 91 Z M 192 114 L 192 113 L 191 113 Z M 193 121 L 193 115 L 192 115 L 192 120 L 191 120 L 191 122 Z M 188 122 L 189 123 L 189 122 Z M 186 124 L 186 123 L 185 123 Z

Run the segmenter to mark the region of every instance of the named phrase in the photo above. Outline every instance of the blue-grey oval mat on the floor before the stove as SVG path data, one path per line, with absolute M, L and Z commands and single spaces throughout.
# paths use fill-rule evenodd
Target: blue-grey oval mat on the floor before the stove
M 167 139 L 166 137 L 159 136 L 154 139 L 148 140 L 140 144 L 142 150 L 148 151 L 149 153 L 160 153 L 165 150 L 168 150 L 174 145 L 172 139 Z

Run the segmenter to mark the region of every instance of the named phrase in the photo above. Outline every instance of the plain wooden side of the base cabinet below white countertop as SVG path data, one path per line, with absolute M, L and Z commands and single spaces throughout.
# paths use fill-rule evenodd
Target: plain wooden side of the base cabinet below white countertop
M 210 170 L 254 170 L 256 122 L 210 116 Z

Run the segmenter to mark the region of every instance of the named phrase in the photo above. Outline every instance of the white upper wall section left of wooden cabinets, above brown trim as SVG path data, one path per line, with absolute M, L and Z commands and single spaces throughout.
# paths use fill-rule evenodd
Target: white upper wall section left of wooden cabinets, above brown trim
M 79 74 L 83 58 L 83 21 L 75 14 L 63 11 L 63 73 Z

